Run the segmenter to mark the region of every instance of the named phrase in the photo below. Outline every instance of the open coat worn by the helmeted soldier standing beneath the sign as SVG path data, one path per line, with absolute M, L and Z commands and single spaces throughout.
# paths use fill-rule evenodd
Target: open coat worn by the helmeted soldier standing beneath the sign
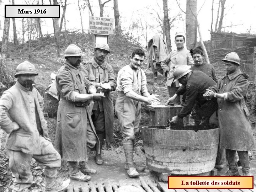
M 104 62 L 98 65 L 94 58 L 87 61 L 82 65 L 83 72 L 86 79 L 89 79 L 92 85 L 95 86 L 96 82 L 109 82 L 111 86 L 110 91 L 116 90 L 116 79 L 114 71 L 110 64 Z M 100 78 L 98 78 L 100 77 Z M 114 130 L 114 104 L 111 98 L 110 91 L 105 92 L 105 98 L 102 98 L 104 116 L 105 116 L 105 139 L 107 142 L 113 141 Z M 97 101 L 95 101 L 97 102 Z

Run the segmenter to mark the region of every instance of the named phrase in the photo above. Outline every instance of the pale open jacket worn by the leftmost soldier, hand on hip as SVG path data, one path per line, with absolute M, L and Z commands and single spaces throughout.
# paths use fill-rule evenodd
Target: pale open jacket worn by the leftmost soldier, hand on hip
M 6 90 L 0 99 L 0 126 L 7 135 L 5 147 L 26 154 L 41 154 L 39 132 L 36 123 L 35 105 L 43 130 L 43 137 L 50 141 L 43 117 L 43 98 L 36 88 L 28 91 L 18 81 Z M 20 128 L 12 131 L 13 122 Z

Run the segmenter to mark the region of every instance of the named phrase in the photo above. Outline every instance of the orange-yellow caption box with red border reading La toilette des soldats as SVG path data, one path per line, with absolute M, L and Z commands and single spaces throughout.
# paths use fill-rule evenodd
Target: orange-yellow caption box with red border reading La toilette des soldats
M 253 189 L 253 176 L 168 176 L 168 189 Z

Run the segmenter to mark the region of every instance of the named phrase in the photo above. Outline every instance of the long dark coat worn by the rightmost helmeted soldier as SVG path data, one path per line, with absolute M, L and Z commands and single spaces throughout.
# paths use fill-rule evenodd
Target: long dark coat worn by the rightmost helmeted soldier
M 222 77 L 211 90 L 227 93 L 228 99 L 218 98 L 218 121 L 220 126 L 220 148 L 237 151 L 255 150 L 255 142 L 249 120 L 245 98 L 249 83 L 240 69 Z

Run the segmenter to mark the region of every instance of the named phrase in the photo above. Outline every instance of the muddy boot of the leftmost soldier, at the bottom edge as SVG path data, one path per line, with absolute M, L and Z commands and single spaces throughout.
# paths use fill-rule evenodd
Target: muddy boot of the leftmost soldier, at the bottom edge
M 56 181 L 55 178 L 46 178 L 46 184 L 45 184 L 45 192 L 57 192 L 57 191 L 63 191 L 65 188 L 69 186 L 70 180 L 67 179 L 65 181 Z

